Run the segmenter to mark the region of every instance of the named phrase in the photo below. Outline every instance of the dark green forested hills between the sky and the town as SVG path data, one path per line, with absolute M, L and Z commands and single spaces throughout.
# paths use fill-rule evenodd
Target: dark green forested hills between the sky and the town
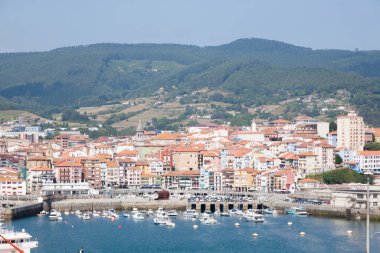
M 232 104 L 275 104 L 349 92 L 349 102 L 380 125 L 380 51 L 311 50 L 240 39 L 214 47 L 96 44 L 41 53 L 0 54 L 0 109 L 45 117 L 68 108 L 209 87 Z

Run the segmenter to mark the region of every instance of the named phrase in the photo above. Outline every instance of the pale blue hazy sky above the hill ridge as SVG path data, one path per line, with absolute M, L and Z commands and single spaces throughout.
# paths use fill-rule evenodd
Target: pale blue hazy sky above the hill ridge
M 0 51 L 265 38 L 380 49 L 380 0 L 0 0 Z

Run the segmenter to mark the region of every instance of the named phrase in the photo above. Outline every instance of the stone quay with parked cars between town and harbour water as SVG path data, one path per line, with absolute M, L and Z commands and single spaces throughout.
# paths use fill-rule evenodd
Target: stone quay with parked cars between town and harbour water
M 366 209 L 362 208 L 365 199 L 360 198 L 362 192 L 301 192 L 296 194 L 282 193 L 257 193 L 257 192 L 215 192 L 215 191 L 187 191 L 171 190 L 170 199 L 153 200 L 152 196 L 157 190 L 131 189 L 115 190 L 99 195 L 81 196 L 10 196 L 2 199 L 1 217 L 15 219 L 35 215 L 41 210 L 50 211 L 92 211 L 116 209 L 119 211 L 138 209 L 157 209 L 159 207 L 167 210 L 175 209 L 183 211 L 194 209 L 197 212 L 225 212 L 231 209 L 245 211 L 247 209 L 272 208 L 279 213 L 285 208 L 302 206 L 310 214 L 316 216 L 339 217 L 346 219 L 364 218 Z M 377 194 L 374 192 L 373 194 Z M 343 195 L 342 195 L 343 194 Z M 357 196 L 357 197 L 356 197 Z M 305 198 L 319 199 L 326 203 L 321 205 L 307 203 L 292 203 L 289 199 Z M 352 201 L 354 199 L 354 201 Z M 372 198 L 371 198 L 372 200 Z M 339 203 L 345 203 L 341 205 Z M 358 204 L 361 204 L 358 208 Z M 371 219 L 380 221 L 380 209 L 374 208 L 370 211 Z

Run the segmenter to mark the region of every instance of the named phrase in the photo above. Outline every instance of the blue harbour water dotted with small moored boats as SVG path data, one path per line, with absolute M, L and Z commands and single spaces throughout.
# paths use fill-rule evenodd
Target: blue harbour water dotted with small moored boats
M 218 224 L 203 225 L 174 218 L 175 228 L 153 224 L 152 218 L 136 221 L 120 217 L 115 222 L 105 218 L 90 221 L 75 215 L 63 222 L 48 217 L 29 217 L 12 221 L 16 230 L 25 228 L 39 241 L 33 253 L 176 252 L 176 253 L 246 253 L 246 252 L 364 252 L 365 222 L 318 217 L 279 215 L 266 217 L 264 224 L 253 224 L 238 217 L 219 217 Z M 293 226 L 288 226 L 288 221 Z M 239 222 L 236 228 L 234 223 Z M 194 230 L 192 226 L 198 224 Z M 119 228 L 121 226 L 121 228 Z M 352 230 L 351 236 L 346 231 Z M 299 235 L 300 231 L 306 233 Z M 380 231 L 380 223 L 371 223 L 371 233 Z M 258 233 L 258 237 L 252 237 Z M 380 235 L 371 239 L 371 252 L 380 252 Z

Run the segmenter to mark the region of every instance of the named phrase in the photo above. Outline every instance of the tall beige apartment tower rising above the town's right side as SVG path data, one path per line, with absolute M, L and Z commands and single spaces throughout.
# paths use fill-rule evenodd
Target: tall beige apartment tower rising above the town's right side
M 355 112 L 337 118 L 337 146 L 362 151 L 365 145 L 365 125 Z

